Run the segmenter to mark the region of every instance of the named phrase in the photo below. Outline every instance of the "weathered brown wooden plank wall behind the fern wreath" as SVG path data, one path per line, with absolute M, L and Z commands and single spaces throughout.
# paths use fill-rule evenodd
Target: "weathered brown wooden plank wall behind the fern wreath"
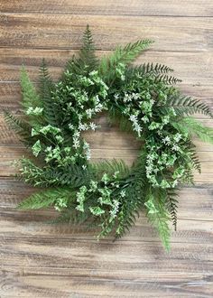
M 87 23 L 100 55 L 117 43 L 155 40 L 138 62 L 168 64 L 185 93 L 213 107 L 212 0 L 1 0 L 0 12 L 0 107 L 15 114 L 21 65 L 36 81 L 44 57 L 57 78 Z M 133 138 L 100 122 L 102 131 L 88 135 L 93 157 L 131 163 Z M 122 239 L 97 243 L 82 228 L 44 224 L 52 210 L 15 210 L 33 190 L 11 177 L 10 163 L 24 149 L 1 111 L 0 131 L 0 297 L 213 296 L 213 145 L 196 140 L 203 172 L 194 187 L 181 190 L 167 254 L 144 214 Z

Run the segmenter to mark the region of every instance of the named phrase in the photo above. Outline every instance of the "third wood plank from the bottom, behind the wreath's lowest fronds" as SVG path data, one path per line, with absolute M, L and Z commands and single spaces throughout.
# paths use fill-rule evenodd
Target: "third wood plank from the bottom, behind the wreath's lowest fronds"
M 187 210 L 187 206 L 184 206 Z M 203 244 L 212 244 L 213 234 L 212 234 L 212 220 L 194 220 L 190 219 L 190 215 L 193 217 L 192 208 L 188 209 L 185 213 L 189 219 L 178 219 L 177 231 L 173 231 L 171 237 L 172 247 L 175 243 L 197 243 L 202 242 Z M 202 215 L 204 211 L 202 210 Z M 211 212 L 212 213 L 212 212 Z M 56 214 L 48 211 L 18 211 L 14 209 L 0 209 L 1 214 L 1 237 L 35 237 L 35 238 L 69 238 L 72 239 L 88 239 L 88 241 L 94 241 L 97 239 L 98 230 L 95 228 L 90 228 L 81 226 L 71 226 L 69 224 L 48 224 L 45 223 L 47 220 L 55 219 Z M 182 215 L 181 210 L 179 210 L 179 217 Z M 212 219 L 212 214 L 211 214 Z M 108 243 L 112 244 L 114 237 L 106 237 Z M 101 240 L 100 240 L 101 241 Z M 159 245 L 160 239 L 156 233 L 156 230 L 147 223 L 147 219 L 142 216 L 136 220 L 135 226 L 130 228 L 130 232 L 127 232 L 121 240 L 116 240 L 120 242 L 144 242 L 149 241 L 157 243 Z M 160 245 L 159 245 L 160 246 Z

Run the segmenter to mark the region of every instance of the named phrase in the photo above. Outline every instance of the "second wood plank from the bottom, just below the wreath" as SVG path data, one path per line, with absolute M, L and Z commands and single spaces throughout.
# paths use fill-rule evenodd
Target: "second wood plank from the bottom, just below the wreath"
M 204 247 L 202 244 L 186 243 L 183 249 L 181 243 L 176 243 L 171 253 L 167 254 L 160 245 L 153 246 L 150 242 L 116 241 L 110 244 L 87 239 L 70 241 L 65 238 L 20 237 L 17 243 L 17 238 L 5 237 L 1 252 L 1 264 L 5 270 L 25 269 L 26 273 L 29 270 L 32 275 L 38 273 L 38 269 L 43 275 L 50 274 L 52 270 L 53 278 L 56 270 L 58 278 L 66 273 L 70 275 L 71 271 L 71 275 L 76 273 L 77 277 L 81 275 L 82 278 L 83 272 L 88 273 L 89 269 L 93 269 L 93 278 L 98 276 L 103 280 L 117 280 L 117 275 L 120 275 L 121 280 L 134 284 L 136 274 L 139 274 L 138 282 L 143 282 L 143 278 L 146 279 L 151 273 L 156 274 L 153 278 L 161 277 L 162 272 L 164 276 L 165 272 L 167 275 L 184 272 L 186 277 L 187 274 L 211 275 L 213 269 L 212 244 L 205 244 Z M 52 288 L 53 284 L 50 283 Z

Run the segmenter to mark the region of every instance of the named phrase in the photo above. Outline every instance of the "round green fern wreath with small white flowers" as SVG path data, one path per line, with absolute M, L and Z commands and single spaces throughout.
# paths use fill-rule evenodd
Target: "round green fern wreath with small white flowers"
M 212 114 L 172 86 L 180 80 L 168 75 L 169 67 L 130 64 L 151 44 L 129 43 L 98 60 L 87 27 L 79 57 L 68 61 L 57 82 L 44 61 L 38 90 L 22 70 L 24 116 L 5 111 L 5 119 L 34 155 L 19 161 L 18 178 L 42 191 L 23 200 L 19 209 L 54 206 L 60 211 L 57 221 L 87 222 L 98 237 L 111 232 L 121 237 L 146 210 L 169 249 L 179 185 L 193 183 L 193 169 L 200 172 L 191 137 L 213 143 L 213 130 L 190 115 Z M 89 162 L 89 144 L 81 132 L 98 129 L 96 117 L 103 112 L 142 142 L 132 167 L 116 160 Z

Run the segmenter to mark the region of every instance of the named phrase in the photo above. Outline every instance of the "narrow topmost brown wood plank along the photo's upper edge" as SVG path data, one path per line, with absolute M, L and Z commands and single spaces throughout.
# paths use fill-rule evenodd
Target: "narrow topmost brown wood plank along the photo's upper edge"
M 212 16 L 211 0 L 205 3 L 194 0 L 180 4 L 177 1 L 158 0 L 2 0 L 2 13 L 38 13 L 38 14 L 102 14 L 102 15 L 172 15 L 172 16 Z

